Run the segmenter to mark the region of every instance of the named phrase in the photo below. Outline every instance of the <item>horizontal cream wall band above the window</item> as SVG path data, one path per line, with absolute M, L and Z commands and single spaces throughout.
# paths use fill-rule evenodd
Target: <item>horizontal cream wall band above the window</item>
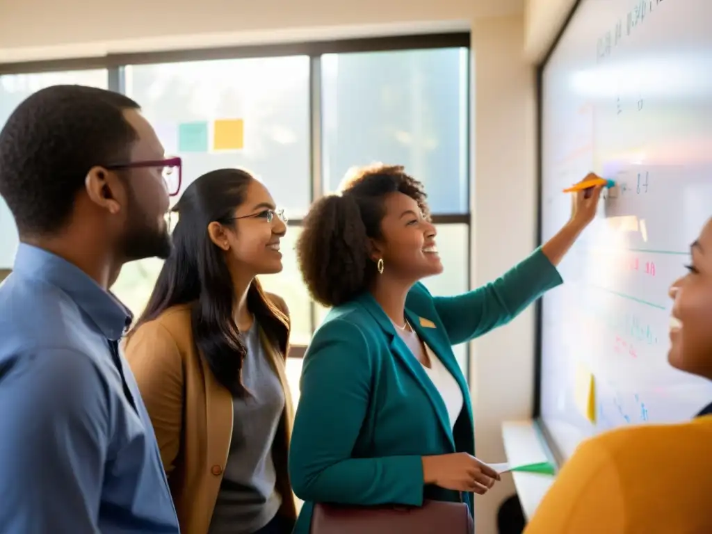
M 0 6 L 0 61 L 23 61 L 466 29 L 478 17 L 520 13 L 524 0 L 0 0 Z

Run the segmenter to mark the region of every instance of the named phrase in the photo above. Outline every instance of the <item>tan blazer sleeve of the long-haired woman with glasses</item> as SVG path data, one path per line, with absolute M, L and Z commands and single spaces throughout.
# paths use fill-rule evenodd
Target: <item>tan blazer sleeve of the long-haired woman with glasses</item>
M 155 321 L 132 333 L 124 352 L 151 417 L 163 468 L 170 476 L 180 449 L 183 423 L 180 352 L 169 331 Z

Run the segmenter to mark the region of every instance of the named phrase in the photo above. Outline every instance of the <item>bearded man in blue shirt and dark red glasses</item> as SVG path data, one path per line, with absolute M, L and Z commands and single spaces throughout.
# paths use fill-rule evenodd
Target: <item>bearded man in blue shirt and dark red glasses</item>
M 34 93 L 0 132 L 21 241 L 0 286 L 0 533 L 179 531 L 108 292 L 123 263 L 171 251 L 179 165 L 133 100 L 79 85 Z

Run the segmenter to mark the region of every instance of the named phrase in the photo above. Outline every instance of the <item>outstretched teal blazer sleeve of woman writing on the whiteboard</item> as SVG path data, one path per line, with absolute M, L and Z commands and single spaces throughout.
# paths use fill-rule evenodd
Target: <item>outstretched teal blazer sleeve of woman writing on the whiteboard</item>
M 559 272 L 538 248 L 486 286 L 433 300 L 450 342 L 457 345 L 509 323 L 545 291 L 561 282 Z

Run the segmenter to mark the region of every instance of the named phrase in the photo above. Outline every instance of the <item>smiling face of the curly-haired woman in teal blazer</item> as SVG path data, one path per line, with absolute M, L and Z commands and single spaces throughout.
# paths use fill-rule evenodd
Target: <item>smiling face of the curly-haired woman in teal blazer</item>
M 384 273 L 408 282 L 441 273 L 437 232 L 424 219 L 417 201 L 403 193 L 389 193 L 383 205 L 382 239 L 374 241 L 373 261 L 382 259 Z

